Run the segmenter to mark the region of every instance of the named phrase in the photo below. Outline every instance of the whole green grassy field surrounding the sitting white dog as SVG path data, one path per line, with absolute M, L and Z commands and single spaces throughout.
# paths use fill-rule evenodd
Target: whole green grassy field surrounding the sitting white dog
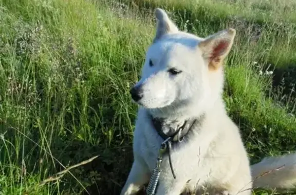
M 0 195 L 119 194 L 156 6 L 199 36 L 237 30 L 225 101 L 251 161 L 296 150 L 292 0 L 0 0 Z

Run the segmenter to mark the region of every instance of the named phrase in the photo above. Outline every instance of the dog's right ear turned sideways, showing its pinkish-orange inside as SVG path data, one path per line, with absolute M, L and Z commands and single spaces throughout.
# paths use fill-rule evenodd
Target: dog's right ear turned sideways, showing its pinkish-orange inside
M 221 66 L 232 47 L 235 33 L 234 29 L 229 28 L 205 38 L 198 44 L 202 56 L 209 63 L 209 70 L 216 70 Z

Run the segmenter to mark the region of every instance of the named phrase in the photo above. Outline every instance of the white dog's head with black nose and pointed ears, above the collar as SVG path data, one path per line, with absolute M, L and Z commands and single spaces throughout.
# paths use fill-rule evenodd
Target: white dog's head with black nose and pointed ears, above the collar
M 223 90 L 221 64 L 232 47 L 235 30 L 199 38 L 179 31 L 162 9 L 157 8 L 155 16 L 156 35 L 141 79 L 131 89 L 133 100 L 146 109 L 176 109 L 193 101 L 212 104 L 210 100 Z

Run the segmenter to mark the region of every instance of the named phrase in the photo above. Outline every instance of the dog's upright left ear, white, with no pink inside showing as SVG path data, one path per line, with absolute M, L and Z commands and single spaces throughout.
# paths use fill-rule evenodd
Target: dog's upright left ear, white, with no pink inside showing
M 178 27 L 173 23 L 163 9 L 156 8 L 154 14 L 157 19 L 156 34 L 153 40 L 154 42 L 165 34 L 179 31 Z

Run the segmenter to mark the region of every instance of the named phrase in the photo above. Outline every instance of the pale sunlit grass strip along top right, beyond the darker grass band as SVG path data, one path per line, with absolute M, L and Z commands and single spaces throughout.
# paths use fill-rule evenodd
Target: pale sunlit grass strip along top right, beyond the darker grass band
M 125 1 L 125 0 L 121 0 Z M 215 12 L 215 16 L 225 17 L 236 15 L 256 20 L 259 23 L 295 22 L 296 14 L 294 9 L 296 3 L 291 0 L 133 0 L 134 4 L 153 4 L 175 8 L 186 8 L 188 11 L 205 9 Z M 202 8 L 203 7 L 203 8 Z M 284 14 L 289 12 L 289 14 Z

